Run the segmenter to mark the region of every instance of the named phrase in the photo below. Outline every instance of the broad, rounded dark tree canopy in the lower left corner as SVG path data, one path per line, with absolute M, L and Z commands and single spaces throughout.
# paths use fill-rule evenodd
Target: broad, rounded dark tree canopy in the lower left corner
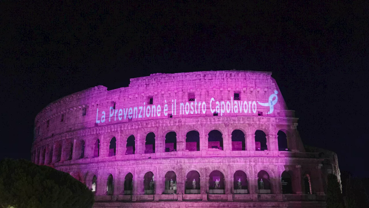
M 91 208 L 94 195 L 68 173 L 26 160 L 0 161 L 0 207 Z

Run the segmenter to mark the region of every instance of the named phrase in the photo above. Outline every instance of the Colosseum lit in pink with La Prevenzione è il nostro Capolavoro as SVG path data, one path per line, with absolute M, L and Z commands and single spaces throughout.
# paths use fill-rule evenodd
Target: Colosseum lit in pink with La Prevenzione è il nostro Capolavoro
M 325 207 L 334 152 L 304 146 L 271 72 L 151 74 L 92 87 L 35 118 L 32 162 L 94 207 Z

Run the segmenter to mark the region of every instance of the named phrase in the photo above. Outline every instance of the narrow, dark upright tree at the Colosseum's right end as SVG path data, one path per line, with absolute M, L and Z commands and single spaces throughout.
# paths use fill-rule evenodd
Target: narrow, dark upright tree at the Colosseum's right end
M 334 174 L 328 175 L 327 208 L 344 208 L 341 188 Z

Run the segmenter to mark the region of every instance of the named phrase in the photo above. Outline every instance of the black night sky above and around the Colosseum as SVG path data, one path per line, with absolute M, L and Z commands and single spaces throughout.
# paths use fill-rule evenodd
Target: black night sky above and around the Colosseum
M 125 2 L 1 2 L 1 158 L 30 159 L 36 114 L 65 95 L 151 73 L 260 70 L 304 144 L 369 177 L 368 1 Z

